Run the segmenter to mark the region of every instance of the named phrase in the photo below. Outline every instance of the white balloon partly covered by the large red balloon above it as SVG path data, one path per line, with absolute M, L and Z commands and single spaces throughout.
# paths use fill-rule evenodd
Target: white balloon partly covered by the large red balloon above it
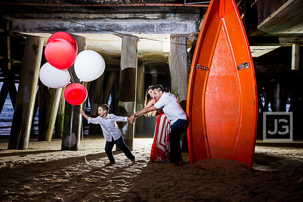
M 65 87 L 71 80 L 71 77 L 66 69 L 57 69 L 48 62 L 41 67 L 39 78 L 45 86 L 50 88 Z

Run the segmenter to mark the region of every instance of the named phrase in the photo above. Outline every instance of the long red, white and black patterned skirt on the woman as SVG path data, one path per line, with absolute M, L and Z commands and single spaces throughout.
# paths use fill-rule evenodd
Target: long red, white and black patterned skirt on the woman
M 163 163 L 170 160 L 169 132 L 171 131 L 170 120 L 164 113 L 157 118 L 154 140 L 151 146 L 151 162 Z

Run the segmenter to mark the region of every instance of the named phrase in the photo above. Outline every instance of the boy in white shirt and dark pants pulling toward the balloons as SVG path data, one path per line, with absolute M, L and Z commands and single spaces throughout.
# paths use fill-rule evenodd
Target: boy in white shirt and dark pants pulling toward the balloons
M 114 144 L 116 144 L 124 152 L 126 157 L 132 161 L 132 164 L 135 164 L 135 156 L 132 154 L 131 150 L 129 150 L 127 145 L 125 145 L 121 132 L 116 123 L 116 121 L 127 121 L 127 117 L 108 114 L 108 110 L 108 105 L 99 105 L 99 116 L 96 118 L 88 117 L 82 110 L 80 114 L 87 119 L 88 123 L 100 124 L 106 140 L 105 152 L 109 159 L 109 163 L 107 165 L 116 164 L 114 156 L 112 155 L 112 148 L 114 147 Z

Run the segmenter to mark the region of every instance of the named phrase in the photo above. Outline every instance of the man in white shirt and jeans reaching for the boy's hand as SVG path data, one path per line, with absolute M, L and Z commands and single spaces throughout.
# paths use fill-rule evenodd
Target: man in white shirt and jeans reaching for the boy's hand
M 172 124 L 169 134 L 171 147 L 171 166 L 178 166 L 178 162 L 182 160 L 180 135 L 182 133 L 182 128 L 184 126 L 187 126 L 187 115 L 181 108 L 180 104 L 176 102 L 176 96 L 171 93 L 165 92 L 161 85 L 154 87 L 154 95 L 158 100 L 156 104 L 134 113 L 128 118 L 128 121 L 129 123 L 133 123 L 136 117 L 163 107 L 165 115 L 171 120 Z

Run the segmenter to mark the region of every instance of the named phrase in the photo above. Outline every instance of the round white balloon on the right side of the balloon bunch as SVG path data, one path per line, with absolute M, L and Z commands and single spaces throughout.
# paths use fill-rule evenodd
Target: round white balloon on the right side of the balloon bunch
M 103 57 L 92 50 L 80 52 L 75 60 L 74 69 L 81 81 L 93 81 L 104 72 L 105 62 Z

